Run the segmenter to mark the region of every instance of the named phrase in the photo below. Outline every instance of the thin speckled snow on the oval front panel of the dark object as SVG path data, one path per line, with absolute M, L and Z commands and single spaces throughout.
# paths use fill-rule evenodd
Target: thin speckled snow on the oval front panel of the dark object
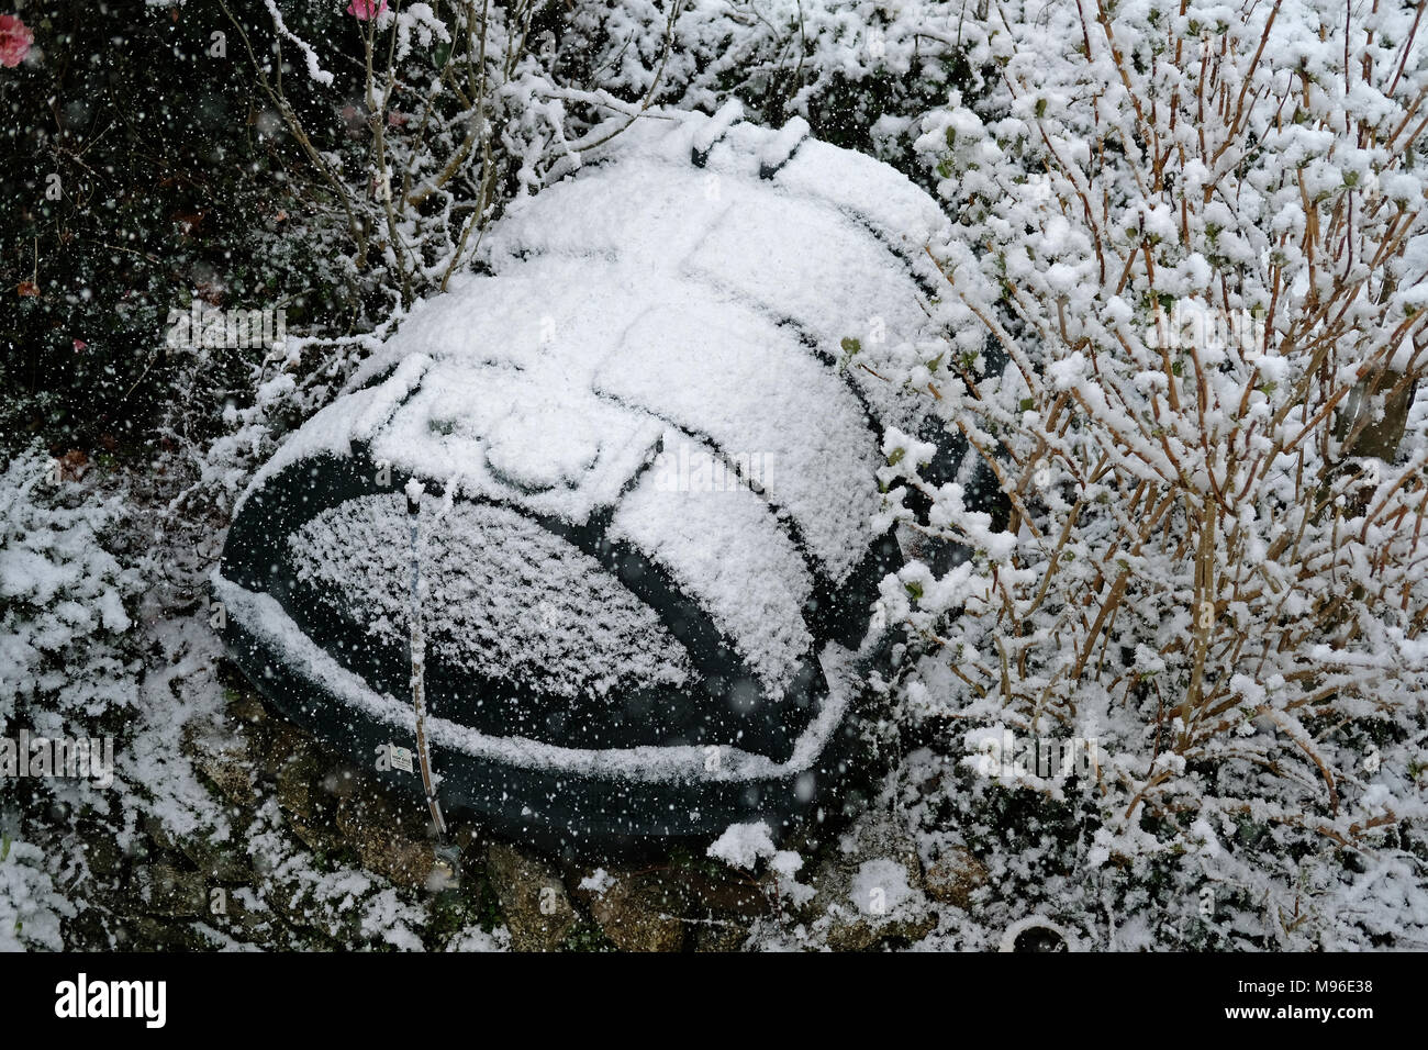
M 690 667 L 655 613 L 588 554 L 513 510 L 454 504 L 423 529 L 421 581 L 433 657 L 511 686 L 560 696 L 620 697 L 680 686 Z M 364 627 L 374 646 L 404 649 L 408 524 L 396 494 L 348 500 L 288 537 L 297 579 Z

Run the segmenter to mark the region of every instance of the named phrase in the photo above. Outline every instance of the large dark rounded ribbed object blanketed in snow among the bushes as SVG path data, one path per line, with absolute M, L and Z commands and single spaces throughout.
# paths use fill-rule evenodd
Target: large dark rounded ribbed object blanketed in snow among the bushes
M 410 747 L 418 480 L 447 807 L 604 837 L 814 806 L 901 566 L 880 443 L 922 399 L 880 363 L 925 323 L 941 223 L 803 121 L 640 120 L 258 471 L 214 576 L 234 659 L 374 766 Z

